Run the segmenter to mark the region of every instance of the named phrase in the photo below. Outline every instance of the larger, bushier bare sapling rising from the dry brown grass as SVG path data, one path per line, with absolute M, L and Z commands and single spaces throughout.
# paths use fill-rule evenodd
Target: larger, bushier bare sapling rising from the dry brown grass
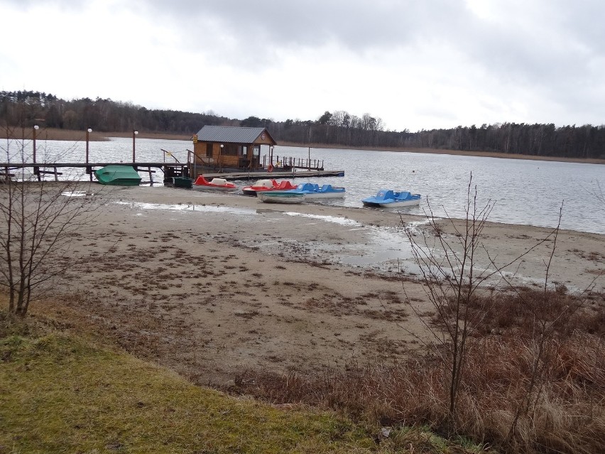
M 479 207 L 471 175 L 462 228 L 446 212 L 445 222 L 453 228 L 453 236 L 442 232 L 441 219 L 435 217 L 430 204 L 428 212 L 425 212 L 429 229 L 428 232 L 423 231 L 420 239 L 417 238 L 415 229 L 405 225 L 405 233 L 420 269 L 421 281 L 425 284 L 423 287 L 439 320 L 436 328 L 423 320 L 418 308 L 412 307 L 432 336 L 433 341 L 425 345 L 436 353 L 445 367 L 447 428 L 451 433 L 456 432 L 457 399 L 470 348 L 469 338 L 483 320 L 489 309 L 487 306 L 491 304 L 489 298 L 478 297 L 480 288 L 492 276 L 503 274 L 504 269 L 546 241 L 543 239 L 506 264 L 497 265 L 492 261 L 490 269 L 477 266 L 478 253 L 484 250 L 481 236 L 493 207 L 494 202 L 491 200 Z

